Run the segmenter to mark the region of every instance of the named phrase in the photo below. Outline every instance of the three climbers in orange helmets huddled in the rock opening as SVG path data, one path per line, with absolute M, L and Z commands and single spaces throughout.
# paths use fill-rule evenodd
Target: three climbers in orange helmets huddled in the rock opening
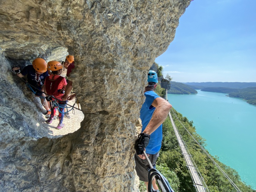
M 68 55 L 62 63 L 58 61 L 46 63 L 44 59 L 36 58 L 33 60 L 32 65 L 26 66 L 22 71 L 19 67 L 12 68 L 14 73 L 20 78 L 27 75 L 29 88 L 37 97 L 40 97 L 41 103 L 46 109 L 46 123 L 51 124 L 53 119 L 58 118 L 59 124 L 56 127 L 57 129 L 64 127 L 64 117 L 70 118 L 66 106 L 68 100 L 72 100 L 74 95 L 67 97 L 67 94 L 70 93 L 69 91 L 65 94 L 65 99 L 63 99 L 63 96 L 68 88 L 65 76 L 67 72 L 71 72 L 74 66 L 74 56 Z M 55 116 L 57 109 L 59 111 L 58 117 Z

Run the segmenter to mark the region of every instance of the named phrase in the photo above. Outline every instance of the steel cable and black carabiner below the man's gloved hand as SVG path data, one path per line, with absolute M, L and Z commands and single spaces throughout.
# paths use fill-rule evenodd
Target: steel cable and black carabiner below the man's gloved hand
M 148 189 L 150 192 L 155 192 L 156 190 L 152 187 L 152 181 L 154 178 L 156 178 L 157 184 L 159 185 L 162 192 L 174 192 L 171 188 L 170 184 L 168 183 L 167 179 L 159 172 L 157 171 L 153 166 L 152 163 L 149 160 L 149 157 L 147 157 L 147 154 L 145 150 L 143 150 L 143 153 L 146 157 L 147 162 L 149 163 L 150 170 L 149 170 L 149 184 Z

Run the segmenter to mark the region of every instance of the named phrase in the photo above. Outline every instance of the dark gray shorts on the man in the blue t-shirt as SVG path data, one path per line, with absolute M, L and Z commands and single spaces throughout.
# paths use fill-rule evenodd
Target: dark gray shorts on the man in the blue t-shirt
M 159 152 L 156 154 L 149 154 L 149 160 L 152 163 L 152 166 L 156 168 L 156 160 L 159 157 Z M 149 182 L 149 163 L 146 159 L 141 159 L 137 154 L 134 155 L 135 159 L 135 170 L 137 175 L 139 176 L 139 180 Z

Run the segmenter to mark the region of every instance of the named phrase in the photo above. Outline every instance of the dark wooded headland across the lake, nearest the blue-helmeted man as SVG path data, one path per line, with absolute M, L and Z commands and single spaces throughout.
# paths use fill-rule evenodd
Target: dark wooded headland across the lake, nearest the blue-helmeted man
M 195 89 L 192 89 L 188 85 L 185 85 L 184 83 L 178 83 L 174 81 L 170 81 L 171 83 L 171 89 L 168 90 L 167 93 L 170 94 L 191 94 L 191 93 L 197 93 Z

